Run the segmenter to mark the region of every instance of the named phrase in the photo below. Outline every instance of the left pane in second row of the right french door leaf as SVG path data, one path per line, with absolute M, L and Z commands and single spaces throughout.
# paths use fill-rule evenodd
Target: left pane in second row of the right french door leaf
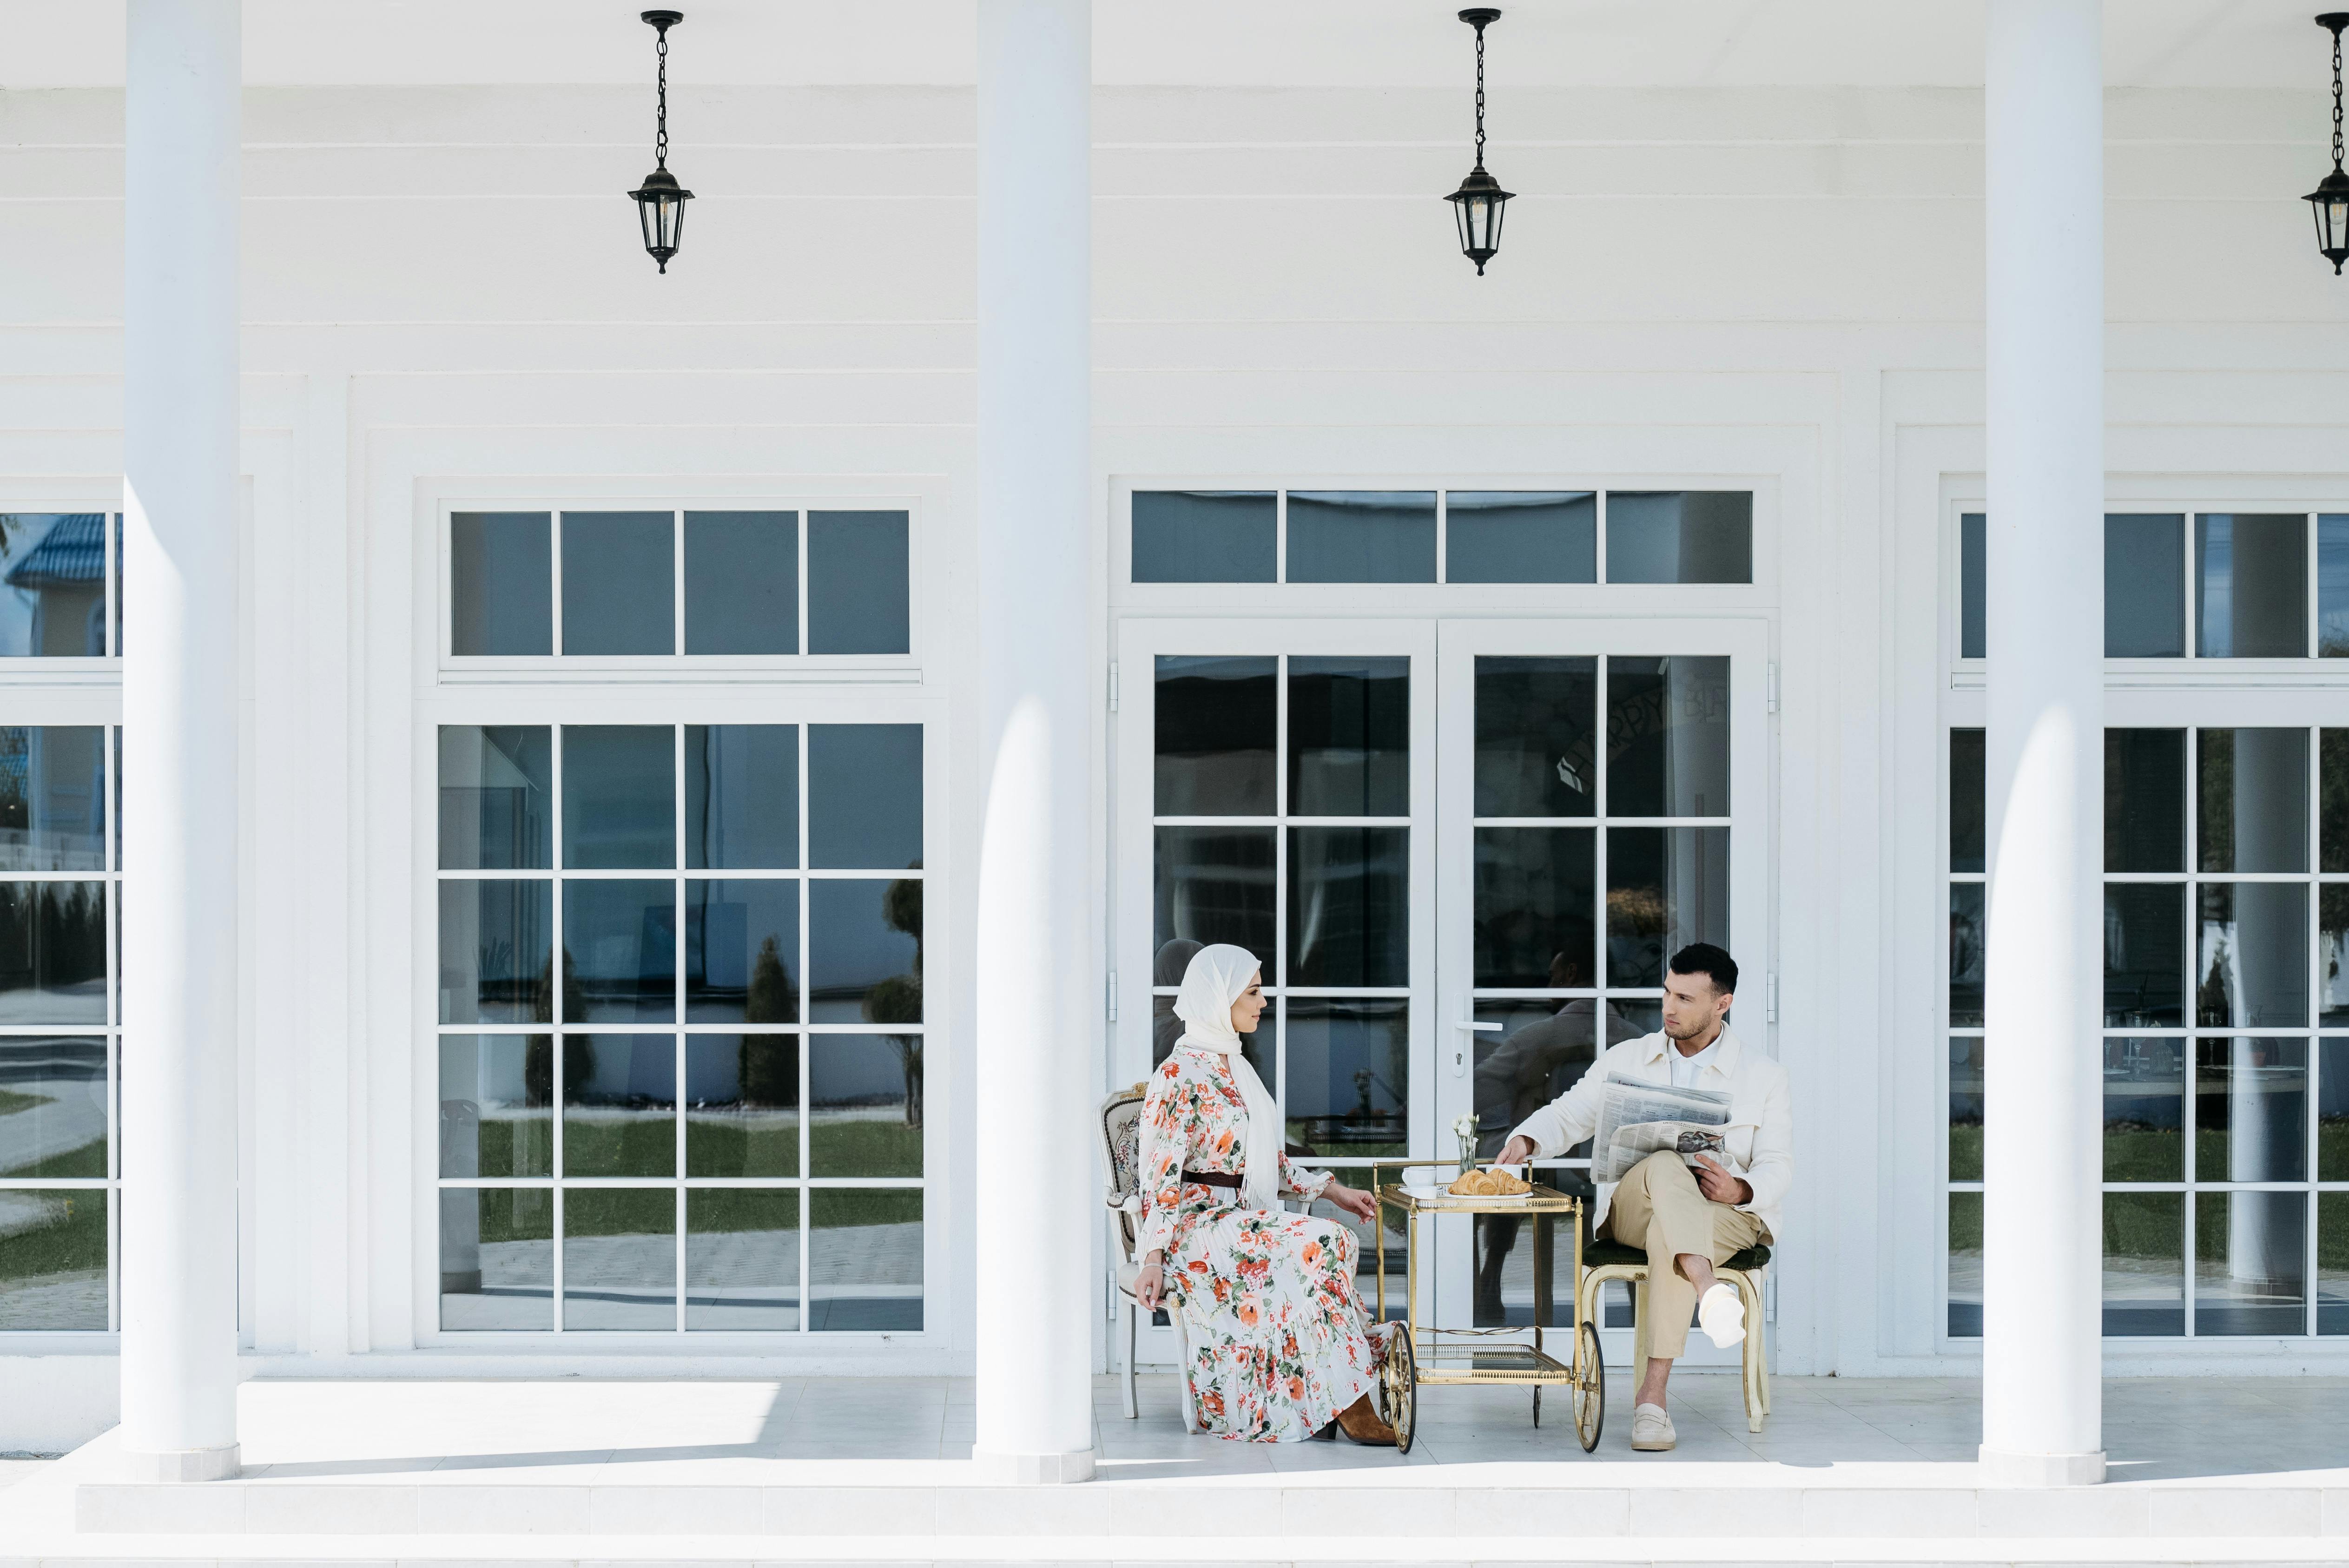
M 1475 984 L 1597 984 L 1597 843 L 1590 829 L 1475 831 Z

